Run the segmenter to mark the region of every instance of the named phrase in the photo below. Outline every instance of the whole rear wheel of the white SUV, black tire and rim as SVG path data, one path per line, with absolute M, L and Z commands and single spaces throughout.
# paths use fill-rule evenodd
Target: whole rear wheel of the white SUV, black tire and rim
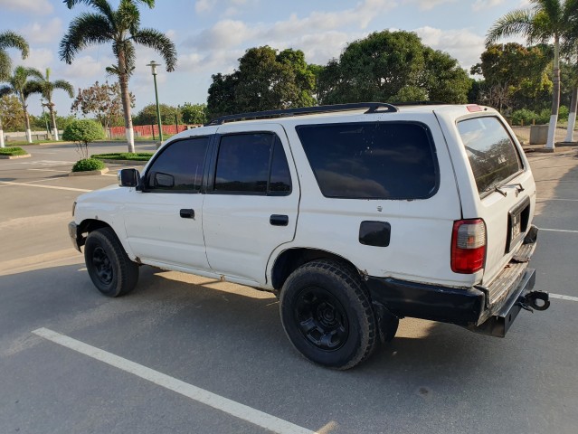
M 285 333 L 311 362 L 346 370 L 374 350 L 371 300 L 355 270 L 319 259 L 296 269 L 280 295 Z

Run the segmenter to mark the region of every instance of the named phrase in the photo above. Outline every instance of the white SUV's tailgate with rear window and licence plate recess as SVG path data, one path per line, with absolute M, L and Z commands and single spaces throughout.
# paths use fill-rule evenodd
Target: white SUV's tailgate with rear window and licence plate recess
M 530 227 L 535 210 L 534 177 L 502 118 L 464 118 L 456 126 L 473 179 L 473 206 L 464 206 L 464 218 L 481 218 L 486 223 L 482 283 L 488 284 L 514 256 Z M 462 193 L 462 197 L 468 196 L 471 193 Z

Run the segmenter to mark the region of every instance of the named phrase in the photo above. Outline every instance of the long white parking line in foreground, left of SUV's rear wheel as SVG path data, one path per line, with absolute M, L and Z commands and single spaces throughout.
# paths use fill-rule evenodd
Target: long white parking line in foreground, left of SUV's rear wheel
M 109 353 L 89 344 L 84 344 L 81 341 L 53 332 L 47 328 L 39 328 L 34 330 L 32 333 L 41 336 L 44 339 L 48 339 L 55 344 L 65 346 L 77 353 L 85 354 L 93 359 L 99 360 L 100 362 L 107 363 L 126 373 L 132 373 L 137 377 L 153 382 L 169 391 L 179 393 L 191 400 L 202 402 L 213 407 L 213 409 L 221 410 L 236 418 L 251 422 L 261 428 L 269 429 L 272 432 L 277 432 L 279 434 L 315 434 L 314 431 L 299 427 L 287 420 L 279 419 L 239 402 L 223 398 L 223 396 L 217 395 L 213 392 L 205 391 L 204 389 L 198 388 L 187 382 L 182 382 L 164 373 L 154 371 L 142 364 L 131 362 L 116 354 Z

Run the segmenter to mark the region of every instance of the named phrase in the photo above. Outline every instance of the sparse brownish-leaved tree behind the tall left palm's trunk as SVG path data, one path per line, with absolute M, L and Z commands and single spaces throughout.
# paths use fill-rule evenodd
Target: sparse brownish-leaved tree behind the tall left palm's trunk
M 130 107 L 135 107 L 135 96 L 129 93 Z M 79 89 L 71 111 L 81 112 L 83 116 L 92 114 L 105 128 L 122 125 L 122 96 L 118 83 L 104 84 L 95 82 L 88 89 Z

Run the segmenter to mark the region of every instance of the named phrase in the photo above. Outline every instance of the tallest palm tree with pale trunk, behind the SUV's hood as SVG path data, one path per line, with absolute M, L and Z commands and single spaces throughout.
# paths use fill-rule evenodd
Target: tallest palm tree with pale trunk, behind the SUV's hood
M 127 129 L 128 152 L 135 152 L 135 138 L 130 117 L 130 97 L 128 79 L 135 68 L 135 44 L 154 49 L 160 53 L 166 63 L 166 71 L 174 71 L 176 64 L 175 44 L 163 33 L 155 29 L 141 29 L 140 13 L 137 3 L 149 8 L 155 7 L 155 0 L 120 0 L 115 11 L 108 0 L 65 0 L 71 9 L 84 3 L 97 10 L 96 13 L 83 13 L 72 20 L 68 33 L 60 45 L 62 61 L 68 64 L 74 60 L 77 52 L 89 45 L 112 43 L 112 52 L 118 63 L 112 70 L 118 74 L 122 108 Z

